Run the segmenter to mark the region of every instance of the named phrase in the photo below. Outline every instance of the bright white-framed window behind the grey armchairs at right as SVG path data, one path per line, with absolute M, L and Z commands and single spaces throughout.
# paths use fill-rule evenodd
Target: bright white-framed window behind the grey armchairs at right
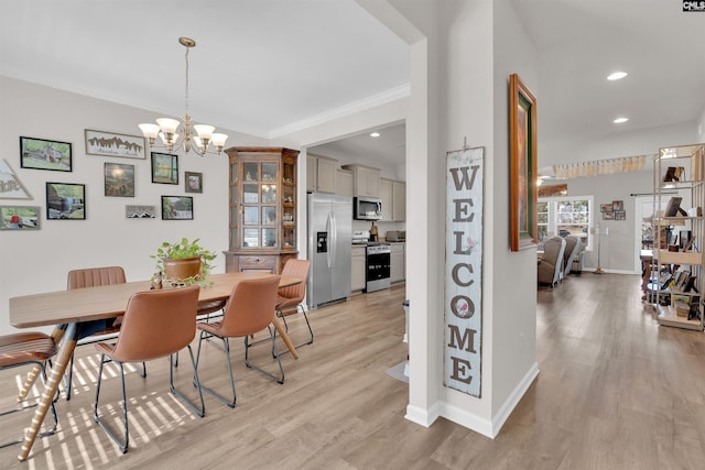
M 536 205 L 536 217 L 540 244 L 549 234 L 575 236 L 583 238 L 587 250 L 593 249 L 593 196 L 541 198 Z

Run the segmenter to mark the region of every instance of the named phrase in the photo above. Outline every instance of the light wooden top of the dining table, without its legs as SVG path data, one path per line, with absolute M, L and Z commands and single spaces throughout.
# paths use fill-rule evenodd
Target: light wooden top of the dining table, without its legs
M 198 302 L 227 299 L 238 281 L 271 275 L 253 272 L 212 274 L 208 276 L 212 284 L 200 288 Z M 279 286 L 286 287 L 300 282 L 296 277 L 282 276 Z M 12 297 L 10 324 L 17 328 L 33 328 L 119 317 L 124 314 L 128 300 L 134 293 L 150 291 L 151 286 L 150 281 L 138 281 Z

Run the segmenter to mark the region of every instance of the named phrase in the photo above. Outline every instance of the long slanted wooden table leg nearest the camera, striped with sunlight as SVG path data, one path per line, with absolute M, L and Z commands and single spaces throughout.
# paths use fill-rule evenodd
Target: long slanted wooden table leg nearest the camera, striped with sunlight
M 69 324 L 64 338 L 58 348 L 58 353 L 56 354 L 56 361 L 54 367 L 51 369 L 48 373 L 48 380 L 46 381 L 46 386 L 44 387 L 44 393 L 42 393 L 42 398 L 40 400 L 39 405 L 36 406 L 36 411 L 34 412 L 34 418 L 32 418 L 32 426 L 24 436 L 24 442 L 22 444 L 22 450 L 18 456 L 19 461 L 26 460 L 26 457 L 30 455 L 30 450 L 32 449 L 32 445 L 34 445 L 34 439 L 36 439 L 36 435 L 42 427 L 42 423 L 44 423 L 44 417 L 46 416 L 46 412 L 56 396 L 56 391 L 58 390 L 58 383 L 64 376 L 64 372 L 66 371 L 66 365 L 70 362 L 70 357 L 74 353 L 74 349 L 76 348 L 76 332 L 77 332 L 78 324 Z

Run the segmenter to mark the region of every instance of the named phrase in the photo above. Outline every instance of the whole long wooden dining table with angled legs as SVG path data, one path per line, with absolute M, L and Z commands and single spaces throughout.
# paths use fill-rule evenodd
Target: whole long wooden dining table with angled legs
M 260 272 L 212 274 L 208 276 L 207 284 L 200 288 L 198 303 L 209 304 L 216 300 L 226 300 L 230 297 L 232 287 L 238 281 L 272 275 L 274 274 Z M 279 287 L 288 287 L 301 282 L 302 280 L 297 277 L 280 276 Z M 78 340 L 77 334 L 80 323 L 121 317 L 124 315 L 128 300 L 133 294 L 150 291 L 151 288 L 152 283 L 150 281 L 138 281 L 10 298 L 10 324 L 13 327 L 36 328 L 57 326 L 54 328 L 52 337 L 58 346 L 54 365 L 50 370 L 48 379 L 35 408 L 31 426 L 25 434 L 18 460 L 26 460 L 32 449 L 50 404 L 57 393 L 58 384 L 73 357 Z M 165 286 L 164 288 L 178 287 Z M 195 320 L 194 315 L 194 321 Z M 58 327 L 59 325 L 62 327 Z M 281 336 L 292 357 L 299 359 L 294 345 L 289 339 L 286 330 L 276 319 L 274 311 L 272 311 L 272 326 Z M 39 367 L 35 367 L 28 374 L 28 379 L 18 396 L 19 401 L 24 400 L 32 389 L 39 372 Z

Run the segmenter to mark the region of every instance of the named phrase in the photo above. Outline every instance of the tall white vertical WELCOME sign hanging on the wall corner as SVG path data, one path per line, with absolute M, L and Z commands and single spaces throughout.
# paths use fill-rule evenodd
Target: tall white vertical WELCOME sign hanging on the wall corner
M 480 397 L 484 147 L 446 154 L 443 384 Z

